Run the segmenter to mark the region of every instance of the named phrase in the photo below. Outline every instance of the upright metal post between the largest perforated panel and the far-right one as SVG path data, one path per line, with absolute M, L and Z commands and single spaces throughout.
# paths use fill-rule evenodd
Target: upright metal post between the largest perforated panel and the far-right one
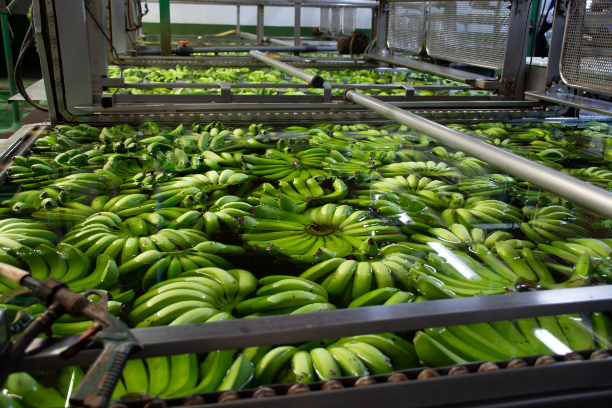
M 501 99 L 523 99 L 530 7 L 531 2 L 518 0 L 513 1 L 510 8 L 506 56 L 504 56 L 499 88 Z

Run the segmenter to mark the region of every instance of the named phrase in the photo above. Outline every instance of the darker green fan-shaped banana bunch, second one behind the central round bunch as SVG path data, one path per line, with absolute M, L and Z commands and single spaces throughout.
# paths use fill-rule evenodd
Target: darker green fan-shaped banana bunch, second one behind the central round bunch
M 315 148 L 295 154 L 267 149 L 263 157 L 245 154 L 242 156 L 244 170 L 264 180 L 292 181 L 294 178 L 308 179 L 327 176 L 321 170 L 321 162 L 329 154 L 327 149 Z

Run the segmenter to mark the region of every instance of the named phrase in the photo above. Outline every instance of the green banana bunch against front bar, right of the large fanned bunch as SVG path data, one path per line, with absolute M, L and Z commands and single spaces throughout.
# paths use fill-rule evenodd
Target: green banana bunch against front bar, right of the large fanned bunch
M 275 314 L 296 314 L 334 310 L 327 300 L 327 291 L 304 278 L 272 275 L 259 279 L 255 297 L 236 305 L 236 312 L 246 317 Z

